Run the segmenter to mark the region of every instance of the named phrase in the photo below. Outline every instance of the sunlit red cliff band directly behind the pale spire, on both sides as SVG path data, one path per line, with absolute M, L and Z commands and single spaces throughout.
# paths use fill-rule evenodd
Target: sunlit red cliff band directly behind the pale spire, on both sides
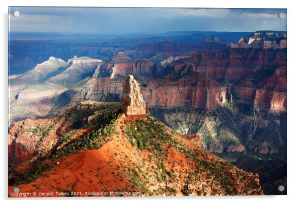
M 95 79 L 75 96 L 74 101 L 120 101 L 123 81 L 119 78 Z M 161 79 L 149 80 L 141 91 L 149 106 L 213 109 L 226 101 L 225 86 L 197 73 L 193 65 L 177 68 Z

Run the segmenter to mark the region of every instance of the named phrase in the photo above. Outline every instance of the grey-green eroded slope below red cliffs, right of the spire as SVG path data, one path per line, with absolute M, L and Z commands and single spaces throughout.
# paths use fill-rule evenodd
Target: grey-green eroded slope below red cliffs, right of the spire
M 224 109 L 213 111 L 186 107 L 151 107 L 149 111 L 180 134 L 193 134 L 190 138 L 211 152 L 242 152 L 245 150 L 240 141 L 239 126 L 234 115 Z

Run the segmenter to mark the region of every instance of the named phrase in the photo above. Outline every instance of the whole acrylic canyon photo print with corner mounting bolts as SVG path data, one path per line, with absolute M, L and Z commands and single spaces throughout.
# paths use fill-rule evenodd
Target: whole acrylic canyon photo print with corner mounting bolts
M 8 10 L 8 197 L 287 194 L 286 9 Z

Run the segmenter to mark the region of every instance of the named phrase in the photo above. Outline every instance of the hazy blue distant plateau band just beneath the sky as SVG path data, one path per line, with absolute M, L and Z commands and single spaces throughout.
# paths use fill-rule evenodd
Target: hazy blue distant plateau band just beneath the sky
M 162 35 L 131 34 L 120 36 L 16 33 L 10 36 L 9 41 L 9 74 L 24 73 L 34 68 L 36 64 L 48 60 L 49 56 L 56 56 L 64 61 L 68 61 L 73 56 L 88 56 L 107 61 L 118 52 L 132 50 L 139 44 L 167 41 L 174 44 L 194 45 L 204 43 L 206 36 L 216 36 L 221 41 L 237 43 L 238 39 L 248 34 L 241 32 L 197 31 L 170 32 Z

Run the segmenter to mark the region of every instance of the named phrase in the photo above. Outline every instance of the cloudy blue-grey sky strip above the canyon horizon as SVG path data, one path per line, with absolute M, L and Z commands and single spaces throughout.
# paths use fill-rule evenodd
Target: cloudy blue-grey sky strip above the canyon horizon
M 10 32 L 164 33 L 287 30 L 286 9 L 10 7 Z M 12 12 L 18 10 L 18 17 Z M 285 18 L 279 19 L 278 13 Z

